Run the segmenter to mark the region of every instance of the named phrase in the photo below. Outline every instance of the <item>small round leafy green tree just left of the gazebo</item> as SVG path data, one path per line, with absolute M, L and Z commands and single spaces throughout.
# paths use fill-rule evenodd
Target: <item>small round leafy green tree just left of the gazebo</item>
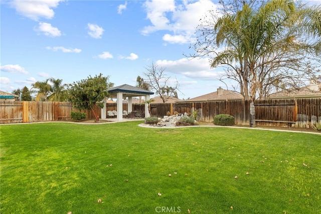
M 70 100 L 78 110 L 91 110 L 99 123 L 98 108 L 103 108 L 102 100 L 108 96 L 107 87 L 110 85 L 109 76 L 100 73 L 95 77 L 70 84 Z

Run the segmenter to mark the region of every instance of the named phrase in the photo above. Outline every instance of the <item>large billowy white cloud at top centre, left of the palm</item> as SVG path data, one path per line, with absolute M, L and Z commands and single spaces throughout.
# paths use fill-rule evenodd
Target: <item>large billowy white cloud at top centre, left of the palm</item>
M 189 1 L 147 0 L 144 4 L 147 19 L 151 25 L 145 26 L 141 33 L 148 35 L 159 30 L 168 30 L 172 34 L 165 34 L 163 40 L 169 43 L 192 43 L 195 28 L 200 24 L 209 10 L 217 6 L 210 0 Z

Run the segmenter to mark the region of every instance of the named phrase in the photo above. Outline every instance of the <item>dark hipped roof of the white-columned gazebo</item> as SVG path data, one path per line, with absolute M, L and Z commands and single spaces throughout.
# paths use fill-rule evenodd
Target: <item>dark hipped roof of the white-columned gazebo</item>
M 137 88 L 131 85 L 123 84 L 119 85 L 113 88 L 107 89 L 109 93 L 109 97 L 116 98 L 117 97 L 117 92 L 122 92 L 123 98 L 126 97 L 133 97 L 133 96 L 145 96 L 148 94 L 154 94 L 154 92 Z

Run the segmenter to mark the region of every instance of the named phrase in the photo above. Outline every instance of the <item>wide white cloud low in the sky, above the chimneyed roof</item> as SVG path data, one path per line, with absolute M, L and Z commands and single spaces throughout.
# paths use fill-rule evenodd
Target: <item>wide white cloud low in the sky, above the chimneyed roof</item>
M 179 60 L 158 60 L 156 65 L 162 66 L 167 72 L 182 75 L 192 79 L 217 79 L 222 72 L 219 69 L 211 69 L 209 58 Z

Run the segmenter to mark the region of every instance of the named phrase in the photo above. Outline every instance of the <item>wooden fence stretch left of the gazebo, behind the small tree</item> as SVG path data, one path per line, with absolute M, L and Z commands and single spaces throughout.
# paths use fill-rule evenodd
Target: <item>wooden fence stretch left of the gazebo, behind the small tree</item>
M 77 112 L 71 102 L 2 101 L 0 123 L 29 123 L 44 121 L 70 121 L 71 111 Z M 83 111 L 94 119 L 91 111 Z M 98 111 L 101 116 L 101 111 Z

